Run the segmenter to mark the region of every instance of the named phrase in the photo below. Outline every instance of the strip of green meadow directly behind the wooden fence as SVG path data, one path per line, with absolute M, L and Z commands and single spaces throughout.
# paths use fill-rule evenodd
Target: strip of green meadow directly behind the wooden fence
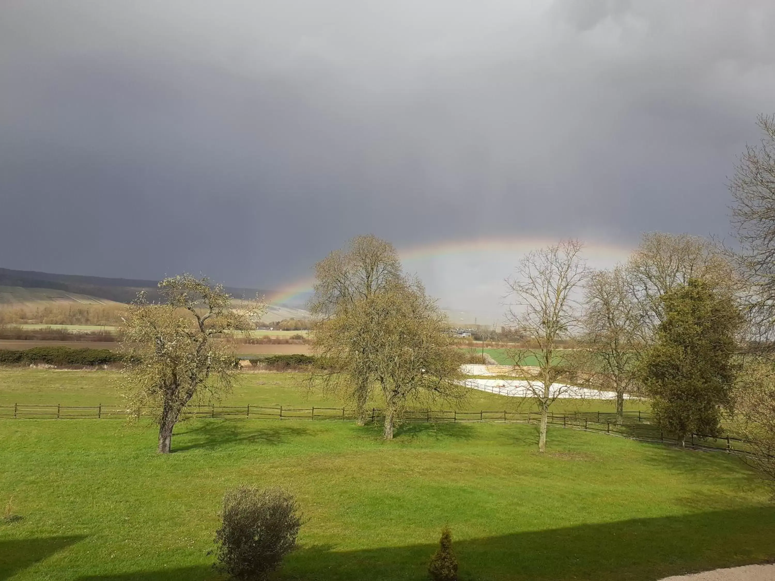
M 335 397 L 309 390 L 304 373 L 241 373 L 233 393 L 225 397 L 223 405 L 257 405 L 284 407 L 342 407 Z M 0 405 L 119 405 L 122 398 L 118 389 L 120 373 L 112 370 L 76 371 L 43 370 L 0 367 Z M 369 406 L 381 407 L 379 398 Z M 626 410 L 648 410 L 648 404 L 626 401 Z M 470 390 L 467 401 L 450 406 L 439 403 L 436 409 L 457 411 L 535 411 L 532 401 Z M 425 407 L 423 407 L 424 409 Z M 572 411 L 615 411 L 611 401 L 558 400 L 552 407 L 555 413 Z

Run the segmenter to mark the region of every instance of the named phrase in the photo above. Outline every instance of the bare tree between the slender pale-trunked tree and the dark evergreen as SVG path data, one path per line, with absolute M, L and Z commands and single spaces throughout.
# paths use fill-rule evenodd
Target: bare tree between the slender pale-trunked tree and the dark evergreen
M 622 266 L 591 274 L 584 285 L 583 345 L 590 356 L 589 381 L 616 393 L 616 421 L 624 420 L 625 394 L 636 389 L 640 308 Z

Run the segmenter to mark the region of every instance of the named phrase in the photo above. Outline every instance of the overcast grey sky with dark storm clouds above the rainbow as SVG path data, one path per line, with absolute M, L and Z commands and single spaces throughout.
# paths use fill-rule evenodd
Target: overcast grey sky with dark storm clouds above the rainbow
M 0 266 L 267 287 L 364 232 L 726 235 L 773 29 L 772 0 L 3 0 Z

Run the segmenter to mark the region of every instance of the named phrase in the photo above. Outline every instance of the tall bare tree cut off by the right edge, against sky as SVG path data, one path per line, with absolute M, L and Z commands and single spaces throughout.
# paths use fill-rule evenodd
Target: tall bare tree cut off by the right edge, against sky
M 748 283 L 746 303 L 756 339 L 775 331 L 775 116 L 760 115 L 761 142 L 747 146 L 729 184 L 737 255 Z

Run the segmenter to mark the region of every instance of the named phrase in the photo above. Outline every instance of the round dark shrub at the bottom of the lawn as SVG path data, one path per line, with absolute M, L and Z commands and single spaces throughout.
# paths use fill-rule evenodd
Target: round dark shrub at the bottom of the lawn
M 296 548 L 301 517 L 293 495 L 280 488 L 229 490 L 221 514 L 218 561 L 236 579 L 267 579 Z

